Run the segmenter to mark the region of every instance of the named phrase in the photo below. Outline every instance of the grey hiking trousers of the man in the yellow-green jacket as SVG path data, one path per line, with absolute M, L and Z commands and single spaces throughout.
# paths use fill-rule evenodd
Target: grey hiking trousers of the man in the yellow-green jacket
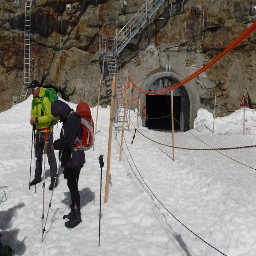
M 35 161 L 35 179 L 41 179 L 42 176 L 42 163 L 43 163 L 43 152 L 44 152 L 44 145 L 46 140 L 46 133 L 45 132 L 37 132 L 35 134 L 35 157 L 37 158 Z M 48 158 L 48 163 L 50 166 L 50 176 L 51 181 L 54 181 L 54 176 L 57 173 L 57 162 L 54 155 L 54 151 L 51 150 L 51 145 L 53 144 L 53 136 L 50 132 L 48 132 L 48 141 L 47 148 L 46 148 L 46 155 Z

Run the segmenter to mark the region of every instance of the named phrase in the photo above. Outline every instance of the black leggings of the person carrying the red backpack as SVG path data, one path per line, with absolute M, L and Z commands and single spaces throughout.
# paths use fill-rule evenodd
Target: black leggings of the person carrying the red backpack
M 68 176 L 68 188 L 70 191 L 70 196 L 71 196 L 71 203 L 72 206 L 74 207 L 75 205 L 77 206 L 79 212 L 80 212 L 80 194 L 78 191 L 78 180 L 79 180 L 79 174 L 81 168 L 67 168 L 67 176 Z

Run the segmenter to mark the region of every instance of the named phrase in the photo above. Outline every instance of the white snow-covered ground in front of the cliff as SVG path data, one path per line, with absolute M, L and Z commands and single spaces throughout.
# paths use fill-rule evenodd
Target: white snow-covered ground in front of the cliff
M 95 151 L 86 152 L 86 164 L 80 173 L 82 223 L 74 229 L 64 226 L 67 220 L 63 215 L 69 212 L 70 199 L 61 168 L 49 208 L 52 191 L 48 190 L 46 159 L 45 219 L 48 210 L 49 215 L 42 242 L 42 183 L 37 185 L 36 193 L 34 187 L 29 190 L 31 99 L 0 113 L 0 231 L 1 241 L 12 247 L 13 255 L 256 255 L 255 147 L 220 151 L 176 148 L 173 161 L 171 147 L 152 142 L 139 132 L 131 144 L 132 128 L 130 133 L 124 132 L 120 162 L 121 134 L 117 139 L 113 134 L 108 203 L 104 203 L 110 110 L 101 107 Z M 75 104 L 68 104 L 75 109 Z M 91 110 L 95 120 L 97 107 Z M 196 149 L 256 145 L 256 113 L 246 109 L 245 135 L 243 113 L 240 109 L 217 118 L 212 133 L 212 114 L 200 109 L 192 130 L 175 133 L 175 146 Z M 137 125 L 136 113 L 131 116 Z M 61 125 L 55 128 L 56 139 L 60 129 Z M 139 131 L 157 142 L 172 144 L 171 133 L 141 125 Z M 105 166 L 98 246 L 100 154 L 104 155 Z M 34 151 L 32 155 L 31 178 Z

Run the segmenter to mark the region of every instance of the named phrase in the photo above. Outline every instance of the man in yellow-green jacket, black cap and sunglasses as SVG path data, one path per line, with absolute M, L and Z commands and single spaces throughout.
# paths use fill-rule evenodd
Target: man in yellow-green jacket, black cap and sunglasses
M 41 182 L 44 144 L 47 143 L 46 154 L 48 157 L 51 176 L 49 189 L 52 190 L 54 186 L 54 176 L 56 176 L 57 173 L 57 163 L 54 151 L 51 149 L 51 145 L 53 144 L 53 131 L 50 126 L 52 121 L 51 103 L 48 97 L 43 97 L 45 89 L 41 87 L 37 80 L 32 81 L 28 89 L 30 89 L 33 95 L 30 111 L 30 124 L 32 126 L 35 124 L 35 129 L 37 130 L 35 134 L 35 157 L 37 158 L 35 178 L 30 182 L 30 186 Z M 42 108 L 41 104 L 42 97 L 44 108 Z M 55 183 L 55 187 L 56 186 L 57 181 Z

